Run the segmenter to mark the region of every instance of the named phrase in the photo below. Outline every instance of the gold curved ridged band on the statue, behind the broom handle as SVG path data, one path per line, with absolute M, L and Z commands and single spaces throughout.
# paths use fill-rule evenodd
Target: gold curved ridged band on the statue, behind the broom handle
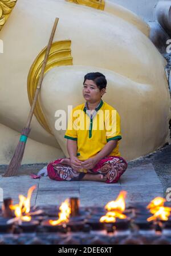
M 43 48 L 40 54 L 36 57 L 28 73 L 27 93 L 30 105 L 32 104 L 32 101 L 34 99 L 36 87 L 38 84 L 43 64 L 43 59 L 46 53 L 46 48 L 47 47 Z M 72 65 L 71 40 L 63 40 L 52 43 L 44 74 L 46 74 L 49 70 L 51 70 L 54 67 L 68 65 Z M 47 123 L 46 117 L 44 116 L 42 108 L 40 107 L 39 97 L 34 109 L 34 115 L 40 123 L 40 125 L 42 125 L 42 127 L 46 129 L 47 132 L 52 134 L 52 131 Z

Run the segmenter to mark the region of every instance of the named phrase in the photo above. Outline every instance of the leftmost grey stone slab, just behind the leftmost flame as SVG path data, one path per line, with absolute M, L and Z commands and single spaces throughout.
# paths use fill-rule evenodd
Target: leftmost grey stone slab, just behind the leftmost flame
M 3 189 L 3 198 L 13 198 L 14 204 L 19 202 L 19 194 L 27 196 L 28 189 L 36 185 L 36 189 L 32 192 L 31 205 L 35 205 L 36 193 L 38 191 L 39 180 L 33 180 L 29 176 L 2 177 L 0 176 L 0 188 Z M 2 204 L 2 202 L 0 202 Z

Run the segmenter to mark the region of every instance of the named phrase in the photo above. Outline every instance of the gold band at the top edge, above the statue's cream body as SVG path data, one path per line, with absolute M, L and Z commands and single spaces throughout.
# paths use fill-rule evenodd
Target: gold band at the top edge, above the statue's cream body
M 77 5 L 86 5 L 95 9 L 104 10 L 105 0 L 66 0 Z

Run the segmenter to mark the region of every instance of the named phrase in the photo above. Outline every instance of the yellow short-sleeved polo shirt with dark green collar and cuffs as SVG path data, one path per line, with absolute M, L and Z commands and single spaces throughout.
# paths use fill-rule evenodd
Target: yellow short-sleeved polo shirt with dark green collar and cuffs
M 100 101 L 96 110 L 89 111 L 85 104 L 72 109 L 64 136 L 77 141 L 79 160 L 95 156 L 110 140 L 120 140 L 120 116 L 111 105 Z M 120 156 L 119 141 L 109 156 Z

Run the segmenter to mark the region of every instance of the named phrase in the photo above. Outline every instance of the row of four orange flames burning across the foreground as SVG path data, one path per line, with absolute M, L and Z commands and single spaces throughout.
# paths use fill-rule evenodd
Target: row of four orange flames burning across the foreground
M 28 189 L 27 197 L 19 195 L 19 203 L 16 205 L 10 205 L 10 209 L 14 210 L 15 214 L 15 218 L 10 220 L 11 222 L 31 221 L 31 216 L 34 215 L 35 213 L 30 212 L 30 201 L 32 192 L 35 189 L 36 185 L 32 186 L 30 189 Z M 125 211 L 126 196 L 127 192 L 121 191 L 115 201 L 108 202 L 108 204 L 105 205 L 107 213 L 105 214 L 105 216 L 102 216 L 100 218 L 100 222 L 116 222 L 116 218 L 127 218 L 127 216 L 123 213 Z M 149 210 L 150 213 L 153 214 L 153 216 L 149 217 L 147 221 L 168 220 L 171 208 L 164 206 L 165 201 L 166 200 L 162 197 L 156 197 L 150 202 L 150 204 L 146 208 Z M 62 223 L 67 223 L 69 221 L 71 214 L 71 206 L 70 201 L 68 199 L 62 203 L 59 210 L 60 212 L 58 220 L 50 220 L 50 225 L 55 226 Z M 36 212 L 36 214 L 37 213 L 38 211 Z

